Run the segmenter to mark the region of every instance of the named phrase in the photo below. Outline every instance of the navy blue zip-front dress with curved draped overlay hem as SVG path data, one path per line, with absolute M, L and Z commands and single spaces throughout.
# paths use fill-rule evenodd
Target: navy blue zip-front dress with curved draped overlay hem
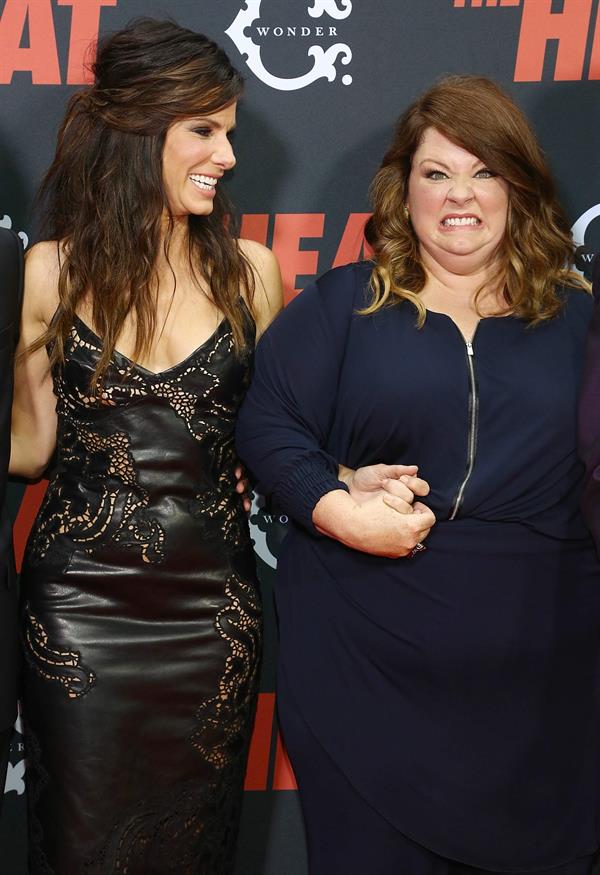
M 408 303 L 359 316 L 370 265 L 327 273 L 258 347 L 238 449 L 295 524 L 279 562 L 280 696 L 404 835 L 506 872 L 598 847 L 600 565 L 579 511 L 592 298 L 468 350 Z M 472 353 L 472 354 L 470 354 Z M 437 524 L 413 559 L 319 536 L 338 463 L 418 464 Z M 285 728 L 285 714 L 283 715 Z

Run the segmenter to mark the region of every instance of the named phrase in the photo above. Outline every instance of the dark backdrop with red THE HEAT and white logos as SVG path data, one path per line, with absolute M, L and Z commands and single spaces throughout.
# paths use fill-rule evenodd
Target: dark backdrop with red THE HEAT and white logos
M 444 73 L 482 73 L 525 109 L 580 244 L 600 249 L 600 0 L 0 0 L 0 226 L 36 239 L 32 202 L 67 98 L 98 34 L 139 15 L 220 42 L 247 78 L 229 192 L 243 234 L 272 247 L 289 300 L 363 254 L 367 190 L 406 105 Z M 585 267 L 582 255 L 581 266 Z M 0 278 L 1 283 L 1 278 Z M 11 485 L 20 558 L 44 484 Z M 251 514 L 267 613 L 262 694 L 238 871 L 306 875 L 294 776 L 279 739 L 271 590 L 288 520 Z M 1 667 L 0 667 L 1 670 Z M 122 744 L 135 744 L 123 738 Z M 0 822 L 0 869 L 25 875 L 17 722 Z

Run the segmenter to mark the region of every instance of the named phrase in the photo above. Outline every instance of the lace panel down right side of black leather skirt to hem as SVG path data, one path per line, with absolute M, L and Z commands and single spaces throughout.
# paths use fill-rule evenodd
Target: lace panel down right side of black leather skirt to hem
M 86 861 L 86 875 L 233 872 L 262 620 L 255 585 L 232 574 L 225 592 L 229 604 L 218 612 L 215 628 L 230 652 L 218 693 L 198 709 L 199 727 L 191 737 L 214 779 L 187 782 L 122 815 Z

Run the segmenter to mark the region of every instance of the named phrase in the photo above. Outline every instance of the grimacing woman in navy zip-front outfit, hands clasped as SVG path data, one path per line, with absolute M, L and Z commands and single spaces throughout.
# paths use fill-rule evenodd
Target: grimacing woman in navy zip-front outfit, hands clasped
M 569 225 L 523 114 L 475 76 L 406 111 L 373 202 L 373 260 L 276 320 L 238 419 L 296 523 L 278 703 L 310 872 L 587 875 L 600 565 L 575 423 L 593 302 Z

